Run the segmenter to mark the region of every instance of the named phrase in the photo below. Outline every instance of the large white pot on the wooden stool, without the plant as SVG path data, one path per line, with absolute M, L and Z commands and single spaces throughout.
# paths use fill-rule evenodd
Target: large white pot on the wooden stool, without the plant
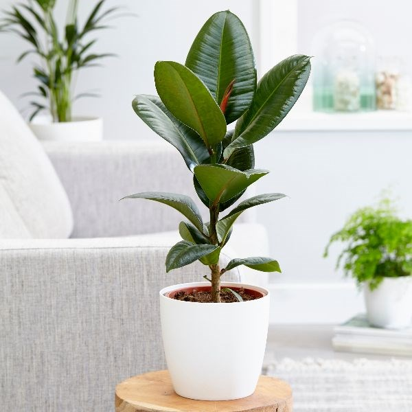
M 165 296 L 208 282 L 179 284 L 160 291 L 161 328 L 174 391 L 196 400 L 231 400 L 251 395 L 262 371 L 269 322 L 268 290 L 243 287 L 263 297 L 233 304 L 201 304 Z

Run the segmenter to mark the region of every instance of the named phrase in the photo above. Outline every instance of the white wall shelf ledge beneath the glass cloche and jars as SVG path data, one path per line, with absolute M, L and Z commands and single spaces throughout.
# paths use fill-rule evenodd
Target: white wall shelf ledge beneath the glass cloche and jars
M 290 111 L 275 129 L 278 132 L 295 131 L 376 131 L 411 130 L 412 113 L 373 111 L 367 113 L 318 113 Z

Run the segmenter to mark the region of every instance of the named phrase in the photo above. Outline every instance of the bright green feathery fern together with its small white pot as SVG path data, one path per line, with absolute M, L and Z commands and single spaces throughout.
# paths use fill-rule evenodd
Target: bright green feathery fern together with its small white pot
M 358 209 L 334 233 L 330 244 L 345 242 L 336 268 L 363 285 L 367 319 L 380 328 L 405 328 L 412 321 L 412 220 L 401 220 L 385 198 Z

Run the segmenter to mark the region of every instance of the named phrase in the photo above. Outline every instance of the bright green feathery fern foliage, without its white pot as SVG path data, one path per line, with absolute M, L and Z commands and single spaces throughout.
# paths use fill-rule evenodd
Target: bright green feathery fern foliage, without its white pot
M 352 275 L 358 284 L 369 282 L 371 290 L 383 277 L 412 275 L 412 220 L 398 218 L 387 198 L 350 216 L 330 238 L 325 257 L 334 242 L 346 244 L 336 268 L 342 266 L 345 275 Z

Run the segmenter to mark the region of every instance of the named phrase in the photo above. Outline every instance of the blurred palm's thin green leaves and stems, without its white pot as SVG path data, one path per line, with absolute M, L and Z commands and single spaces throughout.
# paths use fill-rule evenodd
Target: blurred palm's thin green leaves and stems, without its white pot
M 104 20 L 117 8 L 102 11 L 106 0 L 100 0 L 80 29 L 77 19 L 78 0 L 70 0 L 67 8 L 67 23 L 60 38 L 54 19 L 56 0 L 30 0 L 29 4 L 13 5 L 0 21 L 0 31 L 12 32 L 30 43 L 17 62 L 35 54 L 39 64 L 33 68 L 38 80 L 36 95 L 43 101 L 33 100 L 30 120 L 40 111 L 48 109 L 54 122 L 70 122 L 73 101 L 81 97 L 92 97 L 94 93 L 73 96 L 73 74 L 84 67 L 91 67 L 100 58 L 112 54 L 90 53 L 97 39 L 88 39 L 89 34 L 105 27 Z M 45 102 L 44 102 L 45 100 Z M 47 105 L 48 104 L 48 105 Z

